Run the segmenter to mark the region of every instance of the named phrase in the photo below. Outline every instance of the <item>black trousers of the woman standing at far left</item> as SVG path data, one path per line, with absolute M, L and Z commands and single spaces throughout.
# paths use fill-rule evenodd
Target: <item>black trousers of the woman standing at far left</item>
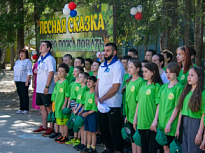
M 20 110 L 29 111 L 29 97 L 28 97 L 29 86 L 25 86 L 25 82 L 16 82 L 16 87 L 20 99 Z

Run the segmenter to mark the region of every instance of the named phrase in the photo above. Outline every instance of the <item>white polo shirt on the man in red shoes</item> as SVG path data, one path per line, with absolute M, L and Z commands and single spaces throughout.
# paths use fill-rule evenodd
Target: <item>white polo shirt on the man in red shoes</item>
M 41 57 L 39 57 L 38 61 L 40 60 Z M 53 71 L 54 73 L 56 72 L 56 60 L 53 58 L 53 56 L 50 55 L 46 59 L 44 59 L 43 62 L 38 64 L 36 93 L 44 93 L 48 75 L 51 71 Z M 54 79 L 52 79 L 48 89 L 48 94 L 52 94 L 54 87 L 55 82 Z

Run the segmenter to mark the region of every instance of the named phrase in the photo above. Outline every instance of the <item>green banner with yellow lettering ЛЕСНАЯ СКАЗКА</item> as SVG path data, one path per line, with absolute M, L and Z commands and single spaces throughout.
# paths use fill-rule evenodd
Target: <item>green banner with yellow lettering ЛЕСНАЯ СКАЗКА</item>
M 77 8 L 77 16 L 61 12 L 42 15 L 38 22 L 37 48 L 41 41 L 51 41 L 53 55 L 95 58 L 97 51 L 113 42 L 113 7 L 107 4 Z

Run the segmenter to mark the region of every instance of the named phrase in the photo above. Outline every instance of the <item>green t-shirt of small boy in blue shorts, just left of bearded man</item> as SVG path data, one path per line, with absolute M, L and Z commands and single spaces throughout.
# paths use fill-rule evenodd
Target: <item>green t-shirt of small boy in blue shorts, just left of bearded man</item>
M 90 91 L 85 92 L 84 110 L 98 111 L 97 105 L 95 104 L 95 93 L 90 93 Z

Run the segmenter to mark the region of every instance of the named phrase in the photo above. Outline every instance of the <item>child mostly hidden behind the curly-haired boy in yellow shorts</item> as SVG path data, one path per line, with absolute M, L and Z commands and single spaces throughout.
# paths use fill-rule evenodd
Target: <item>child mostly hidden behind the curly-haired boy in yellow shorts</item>
M 53 76 L 54 78 L 54 82 L 55 84 L 60 80 L 60 78 L 58 77 L 58 72 L 56 72 Z M 52 101 L 52 112 L 55 113 L 55 96 L 56 96 L 56 91 L 54 90 L 52 95 L 51 95 L 51 101 Z M 57 136 L 60 136 L 61 134 L 59 133 L 59 125 L 58 124 L 54 124 L 55 126 L 55 132 L 51 135 L 49 135 L 49 138 L 55 138 Z

